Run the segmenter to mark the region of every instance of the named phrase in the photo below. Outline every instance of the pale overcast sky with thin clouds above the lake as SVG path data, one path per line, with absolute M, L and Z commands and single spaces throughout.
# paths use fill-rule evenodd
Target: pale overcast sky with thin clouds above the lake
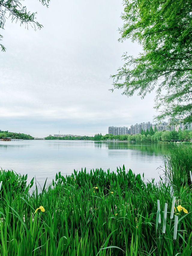
M 141 100 L 113 93 L 111 74 L 122 54 L 141 47 L 119 43 L 123 5 L 118 0 L 25 1 L 44 28 L 6 21 L 0 52 L 0 129 L 49 134 L 106 134 L 108 126 L 152 121 L 154 94 Z M 24 3 L 25 3 L 24 2 Z

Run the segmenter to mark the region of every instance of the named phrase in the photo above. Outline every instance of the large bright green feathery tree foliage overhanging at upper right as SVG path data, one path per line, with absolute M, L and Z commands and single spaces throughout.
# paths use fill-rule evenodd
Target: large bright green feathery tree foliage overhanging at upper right
M 125 64 L 112 76 L 114 88 L 141 98 L 155 89 L 156 119 L 192 122 L 192 2 L 124 0 L 124 7 L 119 41 L 137 41 L 143 51 L 123 55 Z

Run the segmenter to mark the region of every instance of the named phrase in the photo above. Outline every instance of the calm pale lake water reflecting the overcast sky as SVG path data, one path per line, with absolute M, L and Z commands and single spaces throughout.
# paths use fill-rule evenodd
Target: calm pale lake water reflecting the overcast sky
M 129 142 L 23 140 L 0 141 L 0 167 L 17 173 L 36 176 L 42 185 L 61 171 L 68 175 L 73 170 L 102 168 L 116 171 L 119 166 L 144 173 L 145 180 L 159 180 L 162 155 L 168 152 L 166 144 L 136 144 Z

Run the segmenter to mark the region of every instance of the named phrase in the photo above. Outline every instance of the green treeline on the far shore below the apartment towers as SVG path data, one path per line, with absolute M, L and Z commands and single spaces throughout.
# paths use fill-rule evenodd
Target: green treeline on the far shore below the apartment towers
M 65 137 L 54 137 L 48 136 L 46 140 L 106 140 L 106 139 L 119 139 L 119 140 L 128 140 L 128 141 L 171 141 L 171 140 L 189 140 L 192 138 L 192 131 L 184 130 L 181 131 L 157 131 L 157 128 L 153 130 L 151 127 L 150 130 L 141 131 L 140 134 L 136 135 L 113 135 L 106 134 L 102 135 L 95 134 L 95 136 L 65 136 Z

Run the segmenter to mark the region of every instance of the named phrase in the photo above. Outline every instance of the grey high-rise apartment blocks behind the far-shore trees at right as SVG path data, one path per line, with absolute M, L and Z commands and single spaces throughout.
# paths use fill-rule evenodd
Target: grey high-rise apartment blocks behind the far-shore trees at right
M 173 123 L 178 123 L 177 125 L 174 125 Z M 138 134 L 141 133 L 142 129 L 143 131 L 150 130 L 152 127 L 155 129 L 155 126 L 158 131 L 179 131 L 179 128 L 183 131 L 184 129 L 192 130 L 192 123 L 184 125 L 183 123 L 179 123 L 179 119 L 168 119 L 168 122 L 162 122 L 161 124 L 152 124 L 151 122 L 143 122 L 143 123 L 137 123 L 135 125 L 131 125 L 130 128 L 128 127 L 118 127 L 118 126 L 109 126 L 108 128 L 108 134 L 113 135 L 125 135 L 125 134 Z

